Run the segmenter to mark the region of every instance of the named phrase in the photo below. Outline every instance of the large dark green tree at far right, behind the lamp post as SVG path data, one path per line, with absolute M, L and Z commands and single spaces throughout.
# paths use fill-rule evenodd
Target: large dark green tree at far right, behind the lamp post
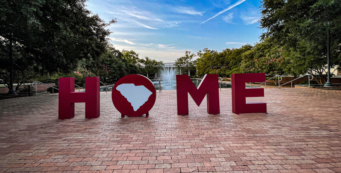
M 261 38 L 271 39 L 287 52 L 294 73 L 322 76 L 327 64 L 327 30 L 331 32 L 332 66 L 341 65 L 341 1 L 263 0 L 261 13 L 261 28 L 266 29 Z

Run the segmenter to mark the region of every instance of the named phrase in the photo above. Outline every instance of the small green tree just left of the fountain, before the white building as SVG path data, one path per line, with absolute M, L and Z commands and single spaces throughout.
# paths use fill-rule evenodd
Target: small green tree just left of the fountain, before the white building
M 145 57 L 145 59 L 140 59 L 139 63 L 142 66 L 142 73 L 143 74 L 150 74 L 150 73 L 157 73 L 159 72 L 161 69 L 163 69 L 163 62 L 162 61 L 157 61 L 155 59 L 150 59 L 147 56 Z

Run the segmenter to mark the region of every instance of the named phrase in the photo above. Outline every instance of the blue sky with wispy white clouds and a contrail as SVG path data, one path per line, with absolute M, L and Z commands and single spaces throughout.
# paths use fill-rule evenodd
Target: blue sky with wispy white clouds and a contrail
M 117 19 L 108 27 L 116 49 L 163 62 L 174 62 L 186 50 L 254 45 L 262 33 L 258 0 L 89 0 L 86 5 L 106 22 Z

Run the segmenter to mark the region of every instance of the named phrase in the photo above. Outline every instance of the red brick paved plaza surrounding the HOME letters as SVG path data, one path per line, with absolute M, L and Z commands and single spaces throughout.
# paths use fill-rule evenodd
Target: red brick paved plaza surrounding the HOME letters
M 124 117 L 101 93 L 101 116 L 58 120 L 58 95 L 0 100 L 0 172 L 341 172 L 341 91 L 266 89 L 269 114 L 220 115 L 206 99 L 176 115 L 176 92 L 157 93 L 149 118 Z

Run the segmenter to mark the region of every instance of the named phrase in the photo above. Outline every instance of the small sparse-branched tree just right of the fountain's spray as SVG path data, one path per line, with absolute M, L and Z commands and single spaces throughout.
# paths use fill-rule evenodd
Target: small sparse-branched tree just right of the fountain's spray
M 194 53 L 191 54 L 191 51 L 186 51 L 185 56 L 182 56 L 175 60 L 174 65 L 181 70 L 183 74 L 189 74 L 190 70 L 195 69 L 195 60 L 192 60 L 196 55 Z

